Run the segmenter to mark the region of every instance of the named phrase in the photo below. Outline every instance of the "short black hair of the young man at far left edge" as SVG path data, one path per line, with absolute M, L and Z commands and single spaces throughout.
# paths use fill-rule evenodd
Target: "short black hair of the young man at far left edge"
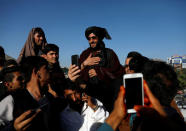
M 13 72 L 20 72 L 20 68 L 18 66 L 3 68 L 3 70 L 1 71 L 2 81 L 11 82 L 14 78 Z

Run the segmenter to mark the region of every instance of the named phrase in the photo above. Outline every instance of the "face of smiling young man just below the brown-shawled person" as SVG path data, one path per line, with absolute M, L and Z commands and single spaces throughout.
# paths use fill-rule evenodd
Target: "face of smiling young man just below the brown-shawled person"
M 48 61 L 49 64 L 55 64 L 58 62 L 59 53 L 56 51 L 49 51 L 44 58 Z

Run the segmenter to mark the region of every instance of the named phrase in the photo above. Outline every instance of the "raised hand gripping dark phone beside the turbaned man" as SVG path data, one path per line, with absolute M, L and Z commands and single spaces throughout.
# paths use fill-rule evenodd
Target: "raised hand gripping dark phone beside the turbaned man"
M 80 76 L 80 69 L 76 65 L 70 65 L 69 70 L 68 70 L 68 78 L 72 81 L 75 82 L 76 79 Z

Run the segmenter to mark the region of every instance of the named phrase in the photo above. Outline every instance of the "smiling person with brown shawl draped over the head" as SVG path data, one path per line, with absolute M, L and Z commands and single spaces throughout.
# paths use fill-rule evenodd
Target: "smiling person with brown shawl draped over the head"
M 41 50 L 47 44 L 45 33 L 42 28 L 32 28 L 29 32 L 28 38 L 17 58 L 17 63 L 20 63 L 28 56 L 40 56 Z

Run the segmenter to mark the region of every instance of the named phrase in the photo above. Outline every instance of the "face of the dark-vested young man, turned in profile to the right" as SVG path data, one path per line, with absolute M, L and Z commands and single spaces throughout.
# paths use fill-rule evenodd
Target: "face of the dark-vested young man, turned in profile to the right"
M 50 73 L 46 65 L 43 65 L 37 72 L 40 87 L 48 86 L 50 82 Z

